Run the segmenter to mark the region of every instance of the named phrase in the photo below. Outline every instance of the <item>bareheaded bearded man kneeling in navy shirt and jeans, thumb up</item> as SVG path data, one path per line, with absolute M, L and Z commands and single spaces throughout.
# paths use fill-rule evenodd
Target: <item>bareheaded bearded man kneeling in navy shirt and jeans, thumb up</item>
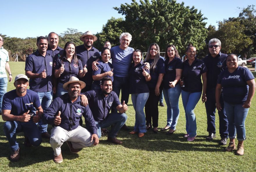
M 97 125 L 98 136 L 101 137 L 101 128 L 112 126 L 107 141 L 122 144 L 123 142 L 118 140 L 116 136 L 127 120 L 125 111 L 128 110 L 128 107 L 125 101 L 121 104 L 117 94 L 112 91 L 111 78 L 105 77 L 101 80 L 100 91 L 90 90 L 83 94 L 88 98 L 89 107 Z M 109 113 L 112 107 L 115 107 L 120 113 Z

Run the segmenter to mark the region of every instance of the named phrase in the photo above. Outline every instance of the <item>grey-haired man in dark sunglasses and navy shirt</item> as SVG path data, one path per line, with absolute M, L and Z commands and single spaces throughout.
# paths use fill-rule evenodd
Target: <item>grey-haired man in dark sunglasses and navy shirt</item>
M 221 41 L 217 38 L 213 38 L 209 41 L 209 52 L 203 61 L 207 67 L 207 90 L 206 96 L 207 101 L 205 102 L 206 114 L 207 114 L 207 131 L 209 135 L 206 140 L 211 141 L 216 137 L 215 129 L 215 112 L 216 112 L 216 101 L 215 101 L 215 88 L 217 84 L 218 75 L 226 68 L 227 54 L 221 53 Z M 220 103 L 222 110 L 218 111 L 219 115 L 219 132 L 221 140 L 220 145 L 227 144 L 227 115 L 224 109 L 223 94 L 220 97 Z

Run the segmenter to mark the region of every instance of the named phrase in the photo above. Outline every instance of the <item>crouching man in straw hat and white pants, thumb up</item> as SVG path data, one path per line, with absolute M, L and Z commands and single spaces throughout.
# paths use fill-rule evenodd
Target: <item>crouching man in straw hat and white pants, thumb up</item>
M 68 92 L 54 99 L 42 117 L 43 121 L 54 127 L 51 130 L 50 144 L 54 150 L 53 161 L 56 163 L 63 161 L 61 146 L 65 141 L 72 153 L 78 153 L 80 148 L 96 146 L 99 143 L 92 112 L 88 106 L 81 105 L 79 94 L 84 87 L 83 81 L 74 76 L 70 77 L 70 80 L 63 84 L 63 88 Z M 79 125 L 82 115 L 88 130 Z

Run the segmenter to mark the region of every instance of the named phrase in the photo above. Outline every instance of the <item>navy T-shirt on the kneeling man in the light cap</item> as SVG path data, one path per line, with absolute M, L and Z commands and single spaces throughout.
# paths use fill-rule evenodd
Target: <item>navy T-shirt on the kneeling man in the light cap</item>
M 3 96 L 2 110 L 11 110 L 10 114 L 20 116 L 25 112 L 33 112 L 33 107 L 41 106 L 38 94 L 27 89 L 26 95 L 19 97 L 16 89 L 9 91 Z

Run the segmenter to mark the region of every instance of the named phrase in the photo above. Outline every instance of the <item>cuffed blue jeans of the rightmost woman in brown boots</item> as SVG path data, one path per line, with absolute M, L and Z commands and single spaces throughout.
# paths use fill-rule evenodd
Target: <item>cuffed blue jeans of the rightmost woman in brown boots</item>
M 230 139 L 234 139 L 236 138 L 237 134 L 237 140 L 245 140 L 246 135 L 244 122 L 247 117 L 249 108 L 243 108 L 242 104 L 232 105 L 227 102 L 224 102 L 224 107 L 228 120 L 228 137 Z

